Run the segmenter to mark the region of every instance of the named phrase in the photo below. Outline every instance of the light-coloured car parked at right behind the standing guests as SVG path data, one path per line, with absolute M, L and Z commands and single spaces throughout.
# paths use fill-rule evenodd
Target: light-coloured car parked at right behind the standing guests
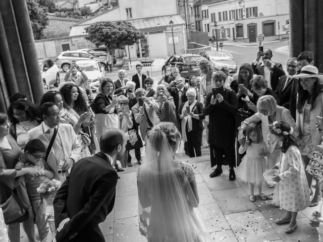
M 233 59 L 233 56 L 227 51 L 210 50 L 206 51 L 209 61 L 216 71 L 220 71 L 223 67 L 229 68 L 229 75 L 233 76 L 237 73 L 237 64 Z

